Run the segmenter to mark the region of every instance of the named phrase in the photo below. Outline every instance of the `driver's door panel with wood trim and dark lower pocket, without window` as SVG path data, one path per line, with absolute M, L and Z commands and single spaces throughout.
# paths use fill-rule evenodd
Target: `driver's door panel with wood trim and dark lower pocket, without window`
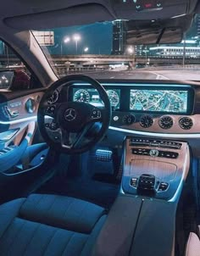
M 37 109 L 42 91 L 26 92 L 25 96 L 15 99 L 14 92 L 0 93 L 4 99 L 0 103 L 0 203 L 25 196 L 52 175 L 54 154 L 44 142 L 33 145 L 35 133 L 37 136 L 39 132 Z M 5 98 L 10 97 L 12 100 L 6 102 Z M 34 105 L 27 107 L 29 99 Z M 18 115 L 10 116 L 7 107 Z

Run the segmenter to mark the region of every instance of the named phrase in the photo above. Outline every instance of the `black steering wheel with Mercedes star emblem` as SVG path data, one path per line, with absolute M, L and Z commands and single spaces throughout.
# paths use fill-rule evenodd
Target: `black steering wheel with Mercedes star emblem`
M 75 82 L 84 82 L 95 88 L 104 107 L 69 101 L 69 93 L 65 102 L 49 103 L 49 98 L 60 86 L 66 87 L 69 92 L 69 86 Z M 54 82 L 44 93 L 37 120 L 41 134 L 50 147 L 64 153 L 83 153 L 103 139 L 108 130 L 111 111 L 108 94 L 98 81 L 87 75 L 67 75 Z M 89 136 L 88 131 L 94 123 L 99 128 L 95 136 Z

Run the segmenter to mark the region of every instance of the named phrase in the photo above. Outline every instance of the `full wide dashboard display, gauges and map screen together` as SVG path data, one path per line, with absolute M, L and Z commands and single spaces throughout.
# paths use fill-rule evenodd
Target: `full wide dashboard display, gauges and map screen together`
M 145 113 L 189 114 L 192 109 L 192 92 L 187 87 L 169 86 L 119 86 L 106 87 L 113 109 Z M 123 92 L 123 95 L 121 95 Z M 73 88 L 73 101 L 102 106 L 102 100 L 94 88 Z

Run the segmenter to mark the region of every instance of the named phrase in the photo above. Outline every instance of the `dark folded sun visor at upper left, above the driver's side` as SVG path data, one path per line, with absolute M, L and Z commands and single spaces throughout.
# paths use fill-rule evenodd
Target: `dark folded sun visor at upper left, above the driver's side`
M 110 14 L 108 9 L 104 8 L 103 5 L 85 4 L 45 13 L 10 17 L 3 19 L 3 22 L 18 31 L 25 31 L 83 25 L 97 21 L 110 21 L 114 19 L 115 17 Z

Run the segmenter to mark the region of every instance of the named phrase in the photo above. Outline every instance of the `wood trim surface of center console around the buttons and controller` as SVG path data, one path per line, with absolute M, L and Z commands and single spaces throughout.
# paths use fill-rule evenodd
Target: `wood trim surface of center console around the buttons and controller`
M 122 190 L 125 193 L 136 195 L 136 188 L 131 186 L 131 178 L 138 179 L 143 174 L 155 175 L 157 181 L 169 183 L 166 192 L 157 192 L 155 198 L 170 200 L 175 196 L 181 183 L 185 181 L 190 167 L 190 153 L 186 142 L 182 143 L 181 149 L 164 147 L 130 146 L 130 138 L 125 140 L 124 172 L 122 178 Z M 164 152 L 179 153 L 177 159 L 137 155 L 132 153 L 134 148 L 156 149 Z

